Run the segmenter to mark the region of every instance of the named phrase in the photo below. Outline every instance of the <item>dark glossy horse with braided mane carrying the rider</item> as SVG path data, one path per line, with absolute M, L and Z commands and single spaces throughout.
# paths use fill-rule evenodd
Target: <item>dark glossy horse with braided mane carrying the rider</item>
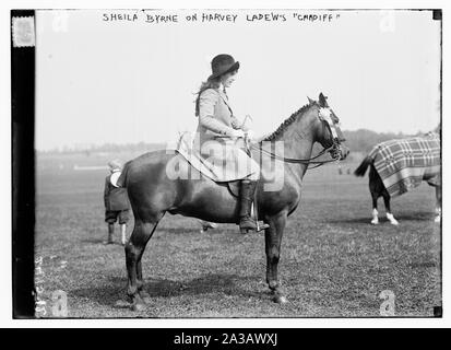
M 318 102 L 309 98 L 307 105 L 295 112 L 273 133 L 252 145 L 253 159 L 261 161 L 261 172 L 265 174 L 259 180 L 256 201 L 259 219 L 269 225 L 264 232 L 266 282 L 274 302 L 286 302 L 278 282 L 277 265 L 287 217 L 299 205 L 302 177 L 309 163 L 320 165 L 324 162 L 311 158 L 313 143 L 319 142 L 324 148 L 322 154 L 329 152 L 333 161 L 337 161 L 348 154 L 342 141 L 339 118 L 321 93 Z M 283 154 L 278 152 L 280 148 L 277 153 L 273 152 L 276 143 L 283 144 Z M 143 310 L 149 300 L 149 294 L 143 290 L 141 258 L 166 212 L 210 222 L 237 223 L 239 202 L 227 186 L 200 174 L 180 154 L 169 153 L 154 151 L 138 156 L 124 164 L 118 180 L 127 187 L 134 215 L 134 229 L 124 247 L 127 294 L 134 311 Z M 191 178 L 168 177 L 168 164 L 177 156 L 178 162 L 185 165 L 180 168 L 189 172 Z M 271 188 L 270 185 L 274 184 L 277 186 Z

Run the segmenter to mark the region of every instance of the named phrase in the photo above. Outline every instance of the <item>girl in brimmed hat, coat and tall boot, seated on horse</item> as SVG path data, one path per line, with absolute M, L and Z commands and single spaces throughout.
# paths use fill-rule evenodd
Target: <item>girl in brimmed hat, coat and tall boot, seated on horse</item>
M 241 233 L 257 231 L 251 206 L 260 166 L 248 154 L 246 137 L 252 135 L 245 122 L 233 113 L 226 88 L 236 79 L 239 62 L 230 55 L 217 55 L 212 60 L 212 74 L 202 83 L 195 101 L 199 117 L 194 150 L 207 162 L 218 164 L 219 182 L 240 179 L 239 228 Z M 213 153 L 213 155 L 212 155 Z

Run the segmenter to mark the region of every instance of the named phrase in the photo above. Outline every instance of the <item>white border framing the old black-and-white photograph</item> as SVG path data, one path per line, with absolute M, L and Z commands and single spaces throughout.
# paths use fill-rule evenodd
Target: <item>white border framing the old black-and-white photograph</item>
M 450 31 L 450 1 L 247 1 L 246 4 L 239 0 L 222 1 L 99 1 L 99 0 L 78 0 L 78 1 L 21 1 L 5 0 L 0 5 L 0 47 L 2 52 L 9 52 L 10 47 L 10 10 L 11 9 L 443 9 L 443 59 L 449 62 L 449 35 Z M 447 42 L 447 43 L 446 43 Z M 450 295 L 450 237 L 447 235 L 449 226 L 447 218 L 443 218 L 442 247 L 443 252 L 443 318 L 258 318 L 258 319 L 12 319 L 12 295 L 11 295 L 11 74 L 10 55 L 0 56 L 0 149 L 3 172 L 0 180 L 0 222 L 2 228 L 2 241 L 0 244 L 0 327 L 153 327 L 153 328 L 180 328 L 180 327 L 269 327 L 269 328 L 297 328 L 297 327 L 449 327 L 451 325 L 451 295 Z M 450 101 L 449 89 L 446 82 L 450 81 L 447 66 L 443 67 L 443 93 L 442 93 L 442 129 L 443 129 L 443 178 L 449 176 L 449 164 L 447 162 L 447 150 L 450 141 L 444 137 L 448 133 L 447 116 L 450 116 L 450 108 L 447 101 Z M 5 165 L 7 164 L 7 165 Z M 443 191 L 447 192 L 447 183 L 443 182 Z M 449 192 L 449 191 L 448 191 Z M 450 208 L 449 197 L 443 197 L 443 212 Z M 448 256 L 447 256 L 448 255 Z

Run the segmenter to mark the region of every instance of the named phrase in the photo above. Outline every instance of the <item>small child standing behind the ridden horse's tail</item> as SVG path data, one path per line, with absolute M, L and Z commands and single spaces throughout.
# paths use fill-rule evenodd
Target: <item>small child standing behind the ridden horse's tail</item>
M 112 244 L 115 234 L 115 222 L 118 221 L 121 231 L 121 243 L 126 244 L 127 223 L 129 222 L 129 198 L 127 189 L 117 186 L 122 165 L 118 160 L 108 163 L 110 174 L 105 178 L 104 203 L 105 222 L 108 223 L 108 240 L 105 244 Z

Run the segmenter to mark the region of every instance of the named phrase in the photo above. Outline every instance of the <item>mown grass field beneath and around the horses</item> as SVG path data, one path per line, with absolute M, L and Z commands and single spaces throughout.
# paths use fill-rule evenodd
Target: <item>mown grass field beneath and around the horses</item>
M 166 214 L 143 256 L 152 302 L 139 313 L 119 307 L 123 247 L 102 244 L 106 171 L 56 171 L 47 162 L 38 163 L 36 196 L 46 317 L 56 290 L 67 293 L 69 317 L 378 317 L 384 290 L 394 293 L 395 316 L 434 316 L 441 306 L 434 189 L 423 184 L 392 201 L 399 226 L 382 215 L 372 226 L 368 178 L 339 175 L 330 165 L 307 173 L 285 230 L 280 278 L 287 304 L 271 302 L 262 234 L 242 236 L 228 224 L 201 233 L 194 219 Z M 384 213 L 382 202 L 379 208 Z

